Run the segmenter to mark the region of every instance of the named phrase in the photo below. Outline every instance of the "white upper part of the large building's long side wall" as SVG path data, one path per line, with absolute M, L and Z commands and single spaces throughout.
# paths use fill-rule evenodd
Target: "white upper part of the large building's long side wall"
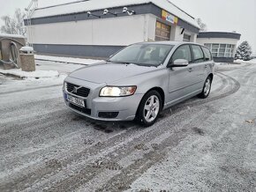
M 135 15 L 29 26 L 34 44 L 125 46 L 153 39 L 153 15 Z M 152 28 L 154 27 L 154 30 Z

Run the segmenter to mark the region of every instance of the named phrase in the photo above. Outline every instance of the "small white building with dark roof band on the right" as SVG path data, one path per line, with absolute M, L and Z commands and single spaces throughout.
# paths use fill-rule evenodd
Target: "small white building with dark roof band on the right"
M 210 48 L 217 63 L 233 63 L 241 34 L 227 32 L 199 33 L 197 42 Z

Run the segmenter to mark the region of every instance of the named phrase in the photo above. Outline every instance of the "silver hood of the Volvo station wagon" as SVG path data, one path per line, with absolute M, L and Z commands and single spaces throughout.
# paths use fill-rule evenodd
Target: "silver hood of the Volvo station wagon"
M 120 79 L 131 78 L 142 73 L 147 73 L 155 69 L 155 67 L 139 66 L 135 64 L 97 63 L 73 71 L 70 77 L 97 84 L 108 84 Z

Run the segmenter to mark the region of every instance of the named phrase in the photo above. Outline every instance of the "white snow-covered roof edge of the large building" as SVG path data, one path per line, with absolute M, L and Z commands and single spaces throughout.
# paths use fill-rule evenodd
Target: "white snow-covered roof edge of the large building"
M 95 11 L 108 9 L 113 7 L 129 6 L 136 4 L 155 4 L 156 6 L 162 8 L 165 11 L 181 18 L 187 23 L 200 28 L 198 23 L 189 14 L 179 9 L 175 4 L 170 3 L 168 0 L 90 0 L 90 1 L 80 1 L 71 4 L 59 4 L 56 6 L 50 6 L 45 8 L 36 9 L 32 18 L 44 18 L 56 15 L 71 14 L 84 11 Z

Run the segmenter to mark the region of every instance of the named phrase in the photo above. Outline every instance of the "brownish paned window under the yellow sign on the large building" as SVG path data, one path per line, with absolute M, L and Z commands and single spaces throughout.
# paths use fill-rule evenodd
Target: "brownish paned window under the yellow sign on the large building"
M 170 26 L 156 21 L 155 27 L 155 41 L 169 41 Z

